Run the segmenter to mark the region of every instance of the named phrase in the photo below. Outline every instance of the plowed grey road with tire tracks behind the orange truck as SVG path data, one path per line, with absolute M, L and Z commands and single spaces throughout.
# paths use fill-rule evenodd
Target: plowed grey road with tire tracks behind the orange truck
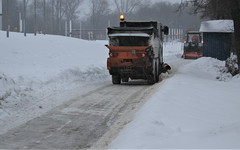
M 150 86 L 145 81 L 134 81 L 112 85 L 108 81 L 96 83 L 95 89 L 89 85 L 82 87 L 91 90 L 65 100 L 62 105 L 0 135 L 1 148 L 89 148 L 112 125 L 119 131 L 130 122 L 134 112 L 161 84 Z

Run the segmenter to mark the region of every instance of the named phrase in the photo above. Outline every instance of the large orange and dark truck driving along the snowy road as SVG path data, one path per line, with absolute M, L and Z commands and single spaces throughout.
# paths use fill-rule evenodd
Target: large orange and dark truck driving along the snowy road
M 129 79 L 144 79 L 149 84 L 158 82 L 159 75 L 171 69 L 163 63 L 163 33 L 168 34 L 168 27 L 156 21 L 121 21 L 120 27 L 109 27 L 107 68 L 112 83 Z

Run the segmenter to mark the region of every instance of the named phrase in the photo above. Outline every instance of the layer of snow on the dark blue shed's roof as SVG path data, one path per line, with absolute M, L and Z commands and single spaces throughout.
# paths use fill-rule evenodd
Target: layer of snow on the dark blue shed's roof
M 203 21 L 200 32 L 234 32 L 232 20 Z

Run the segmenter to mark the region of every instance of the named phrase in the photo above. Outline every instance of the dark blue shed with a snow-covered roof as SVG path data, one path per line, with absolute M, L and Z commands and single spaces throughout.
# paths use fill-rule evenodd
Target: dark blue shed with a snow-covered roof
M 201 23 L 203 56 L 226 60 L 230 57 L 233 37 L 232 20 L 210 20 Z

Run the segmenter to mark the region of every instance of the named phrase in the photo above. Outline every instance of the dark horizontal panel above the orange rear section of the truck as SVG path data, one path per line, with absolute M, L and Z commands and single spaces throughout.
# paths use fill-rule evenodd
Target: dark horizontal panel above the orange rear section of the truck
M 149 37 L 114 36 L 109 40 L 111 46 L 149 46 Z

